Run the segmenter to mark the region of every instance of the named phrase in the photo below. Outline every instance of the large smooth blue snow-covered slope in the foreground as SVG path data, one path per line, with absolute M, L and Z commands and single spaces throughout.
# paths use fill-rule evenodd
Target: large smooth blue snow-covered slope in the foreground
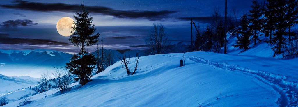
M 268 70 L 262 68 L 270 63 L 258 64 L 261 59 L 254 61 L 257 57 L 212 52 L 190 52 L 186 55 L 186 66 L 182 67 L 179 67 L 180 59 L 182 59 L 181 53 L 142 56 L 135 75 L 127 75 L 118 61 L 105 71 L 94 75 L 93 81 L 85 86 L 76 85 L 70 92 L 64 94 L 50 90 L 47 92 L 49 95 L 47 97 L 43 94 L 34 95 L 32 96 L 33 102 L 24 107 L 196 107 L 199 105 L 274 107 L 295 105 L 292 102 L 293 99 L 289 97 L 292 94 L 285 93 L 295 88 L 288 88 L 280 85 L 280 81 L 274 81 L 279 77 L 282 77 L 279 78 L 280 80 L 287 81 L 283 75 L 275 74 L 287 72 L 282 70 L 284 66 L 276 66 L 280 69 L 279 72 L 271 72 L 273 68 Z M 246 59 L 248 64 L 241 62 L 239 58 Z M 283 65 L 283 61 L 279 59 L 263 60 Z M 135 63 L 130 64 L 131 67 L 134 65 Z M 297 66 L 292 66 L 291 69 L 297 68 Z M 261 72 L 262 70 L 265 71 Z M 297 77 L 295 73 L 291 76 Z M 297 96 L 292 95 L 292 98 L 297 98 Z M 18 101 L 15 101 L 4 107 L 17 105 Z

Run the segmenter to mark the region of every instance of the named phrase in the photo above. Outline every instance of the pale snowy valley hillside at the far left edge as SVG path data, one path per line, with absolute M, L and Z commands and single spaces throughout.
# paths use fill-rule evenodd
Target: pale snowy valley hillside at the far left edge
M 33 77 L 7 77 L 0 74 L 0 95 L 35 86 L 39 80 Z

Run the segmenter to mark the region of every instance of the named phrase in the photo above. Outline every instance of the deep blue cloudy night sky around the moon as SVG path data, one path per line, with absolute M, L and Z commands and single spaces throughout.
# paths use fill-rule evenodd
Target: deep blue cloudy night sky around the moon
M 82 0 L 1 0 L 0 49 L 53 49 L 77 52 L 68 37 L 56 30 L 57 21 L 80 10 Z M 144 38 L 153 24 L 164 24 L 172 44 L 190 41 L 190 17 L 207 27 L 224 0 L 84 0 L 105 48 L 146 49 Z M 250 9 L 250 0 L 228 0 L 239 13 Z M 239 15 L 240 16 L 240 15 Z M 195 31 L 193 31 L 194 33 Z M 92 51 L 94 47 L 89 47 Z

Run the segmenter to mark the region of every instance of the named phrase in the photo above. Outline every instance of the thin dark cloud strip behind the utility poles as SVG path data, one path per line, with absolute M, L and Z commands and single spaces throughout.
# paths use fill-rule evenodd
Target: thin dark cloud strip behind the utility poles
M 190 21 L 190 18 L 193 18 L 193 21 L 199 21 L 201 23 L 211 23 L 212 22 L 212 16 L 206 16 L 206 17 L 180 17 L 179 20 L 183 21 Z M 224 17 L 221 17 L 224 19 Z

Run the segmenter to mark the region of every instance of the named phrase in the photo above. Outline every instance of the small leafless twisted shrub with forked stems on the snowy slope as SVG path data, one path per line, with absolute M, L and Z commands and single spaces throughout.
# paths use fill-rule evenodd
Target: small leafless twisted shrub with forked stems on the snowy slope
M 117 56 L 118 57 L 118 56 Z M 129 64 L 129 61 L 130 61 L 130 58 L 129 58 L 129 55 L 128 55 L 128 58 L 126 58 L 126 55 L 123 54 L 123 57 L 118 57 L 118 59 L 122 62 L 122 66 L 121 68 L 124 68 L 126 70 L 126 73 L 127 75 L 134 75 L 136 70 L 137 70 L 137 67 L 138 67 L 138 64 L 139 64 L 139 56 L 135 59 L 135 62 L 136 62 L 136 66 L 134 67 L 134 71 L 131 72 L 131 67 L 128 67 L 128 64 Z

